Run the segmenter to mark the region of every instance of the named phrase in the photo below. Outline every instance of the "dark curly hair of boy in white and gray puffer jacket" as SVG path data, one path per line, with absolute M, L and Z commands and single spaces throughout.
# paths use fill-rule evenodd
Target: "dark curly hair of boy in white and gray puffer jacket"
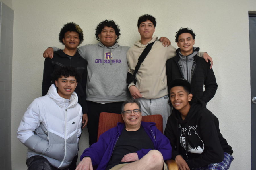
M 55 84 L 55 80 L 57 81 L 59 78 L 64 76 L 65 78 L 71 76 L 75 77 L 77 82 L 80 82 L 81 75 L 74 67 L 61 67 L 60 69 L 57 69 L 53 72 L 53 82 Z

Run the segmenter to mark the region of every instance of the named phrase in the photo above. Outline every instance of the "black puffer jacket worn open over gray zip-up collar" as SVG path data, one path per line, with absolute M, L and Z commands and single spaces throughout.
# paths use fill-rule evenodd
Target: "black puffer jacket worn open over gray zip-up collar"
M 181 69 L 179 67 L 179 48 L 176 50 L 177 55 L 174 58 L 170 58 L 166 61 L 166 76 L 168 92 L 170 93 L 169 84 L 172 80 L 177 78 L 184 78 L 182 76 Z M 198 51 L 196 48 L 195 51 Z M 214 97 L 218 85 L 216 83 L 216 78 L 213 70 L 210 69 L 210 62 L 205 62 L 205 60 L 197 55 L 194 56 L 195 69 L 193 75 L 191 76 L 191 93 L 193 96 L 199 97 L 205 103 L 209 102 L 212 97 Z M 205 85 L 205 91 L 204 91 Z M 169 95 L 170 96 L 170 95 Z

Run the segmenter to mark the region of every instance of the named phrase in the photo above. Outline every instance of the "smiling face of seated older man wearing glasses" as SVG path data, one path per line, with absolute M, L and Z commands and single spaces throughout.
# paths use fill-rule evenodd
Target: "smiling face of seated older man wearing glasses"
M 127 103 L 124 106 L 123 111 L 127 110 L 134 110 L 134 109 L 140 109 L 139 106 L 136 103 Z M 141 126 L 141 112 L 139 114 L 134 114 L 134 112 L 131 112 L 130 115 L 126 115 L 125 113 L 122 113 L 123 121 L 125 123 L 125 127 L 128 129 L 137 129 Z

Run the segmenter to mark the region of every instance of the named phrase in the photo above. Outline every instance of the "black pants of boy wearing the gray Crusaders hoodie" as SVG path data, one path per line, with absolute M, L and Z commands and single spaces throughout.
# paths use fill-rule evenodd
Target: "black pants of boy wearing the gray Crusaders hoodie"
M 112 102 L 106 104 L 100 104 L 93 101 L 87 101 L 88 106 L 88 133 L 89 133 L 89 145 L 97 142 L 98 125 L 101 112 L 119 113 L 121 114 L 121 106 L 123 102 Z

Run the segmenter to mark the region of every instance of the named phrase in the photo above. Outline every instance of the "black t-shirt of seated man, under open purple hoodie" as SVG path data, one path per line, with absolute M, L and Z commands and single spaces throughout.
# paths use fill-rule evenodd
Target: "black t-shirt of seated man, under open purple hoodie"
M 141 149 L 154 149 L 154 144 L 144 128 L 141 126 L 137 131 L 127 131 L 123 129 L 121 135 L 117 139 L 106 170 L 121 163 L 133 162 L 121 162 L 121 160 L 126 154 L 133 153 Z

